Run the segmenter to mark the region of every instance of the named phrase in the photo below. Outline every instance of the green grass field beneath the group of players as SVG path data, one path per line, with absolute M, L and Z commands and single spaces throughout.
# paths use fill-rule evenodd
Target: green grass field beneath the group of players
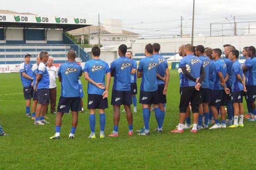
M 171 134 L 178 123 L 179 78 L 170 71 L 167 112 L 162 134 L 128 136 L 125 113 L 121 113 L 119 137 L 99 139 L 99 114 L 96 115 L 96 139 L 90 134 L 89 116 L 79 113 L 75 139 L 68 139 L 71 115 L 63 116 L 61 139 L 55 134 L 55 115 L 50 124 L 35 126 L 25 116 L 25 101 L 18 73 L 0 74 L 0 122 L 11 136 L 0 137 L 0 170 L 85 170 L 85 169 L 191 169 L 252 170 L 256 167 L 256 123 L 244 121 L 243 128 L 201 130 L 192 134 Z M 87 83 L 82 79 L 84 89 Z M 113 84 L 113 82 L 111 82 Z M 138 82 L 140 85 L 140 80 Z M 58 84 L 58 96 L 61 86 Z M 85 90 L 86 91 L 86 90 Z M 109 93 L 111 94 L 111 93 Z M 109 96 L 110 102 L 111 96 Z M 138 96 L 137 96 L 138 99 Z M 84 98 L 84 103 L 87 97 Z M 85 106 L 86 108 L 86 106 Z M 141 105 L 134 113 L 134 130 L 143 127 Z M 113 128 L 113 109 L 106 110 L 106 135 Z M 246 108 L 245 108 L 246 112 Z M 157 127 L 154 113 L 150 128 Z

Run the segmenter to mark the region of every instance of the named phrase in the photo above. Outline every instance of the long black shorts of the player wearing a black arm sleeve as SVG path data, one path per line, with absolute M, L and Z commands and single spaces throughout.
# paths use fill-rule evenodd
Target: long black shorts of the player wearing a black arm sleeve
M 183 87 L 180 95 L 180 113 L 186 113 L 189 102 L 191 102 L 192 112 L 198 113 L 200 96 L 200 91 L 195 90 L 195 86 Z

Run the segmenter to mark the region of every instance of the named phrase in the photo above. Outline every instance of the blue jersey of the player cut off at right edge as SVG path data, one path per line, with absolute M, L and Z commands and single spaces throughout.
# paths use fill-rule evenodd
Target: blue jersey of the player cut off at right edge
M 247 85 L 256 85 L 256 57 L 250 59 L 246 67 L 249 69 Z

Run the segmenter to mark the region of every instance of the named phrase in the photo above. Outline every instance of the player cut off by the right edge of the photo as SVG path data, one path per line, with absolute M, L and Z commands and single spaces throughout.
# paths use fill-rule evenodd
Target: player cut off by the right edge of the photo
M 243 66 L 243 71 L 248 71 L 247 80 L 247 93 L 246 99 L 250 103 L 253 116 L 250 121 L 256 121 L 256 108 L 255 108 L 255 98 L 256 98 L 256 49 L 253 46 L 248 48 L 248 56 L 251 58 L 246 65 Z

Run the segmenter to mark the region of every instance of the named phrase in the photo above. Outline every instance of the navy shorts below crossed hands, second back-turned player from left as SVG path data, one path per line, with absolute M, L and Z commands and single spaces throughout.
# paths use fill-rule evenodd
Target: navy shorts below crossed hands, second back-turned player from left
M 108 98 L 103 99 L 99 94 L 88 94 L 87 109 L 105 109 L 108 108 Z

